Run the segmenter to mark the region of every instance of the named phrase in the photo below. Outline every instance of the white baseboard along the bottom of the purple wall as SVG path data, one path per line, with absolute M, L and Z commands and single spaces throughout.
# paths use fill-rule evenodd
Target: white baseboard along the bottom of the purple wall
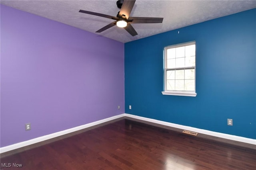
M 88 128 L 88 127 L 99 125 L 101 123 L 105 123 L 107 121 L 111 121 L 111 120 L 114 120 L 114 119 L 118 119 L 120 117 L 124 117 L 124 113 L 120 114 L 120 115 L 108 117 L 106 119 L 102 119 L 102 120 L 99 120 L 99 121 L 94 121 L 92 123 L 87 123 L 85 125 L 73 127 L 71 129 L 66 129 L 64 131 L 59 131 L 59 132 L 52 133 L 52 134 L 49 134 L 49 135 L 45 135 L 45 136 L 42 136 L 42 137 L 37 137 L 37 138 L 34 138 L 34 139 L 30 139 L 28 141 L 15 143 L 13 145 L 8 145 L 6 147 L 0 148 L 0 153 L 8 152 L 10 150 L 18 149 L 18 148 L 21 148 L 21 147 L 26 147 L 28 145 L 32 145 L 32 144 L 35 144 L 35 143 L 38 143 L 38 142 L 42 142 L 42 141 L 46 141 L 48 139 L 52 139 L 54 137 L 59 137 L 59 136 L 62 136 L 62 135 L 66 135 L 68 133 L 72 133 L 72 132 L 79 131 L 79 130 L 82 130 L 82 129 L 85 129 L 85 128 Z

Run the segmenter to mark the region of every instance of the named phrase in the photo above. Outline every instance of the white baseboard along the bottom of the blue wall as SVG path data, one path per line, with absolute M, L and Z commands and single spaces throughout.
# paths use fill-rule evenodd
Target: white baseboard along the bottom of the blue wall
M 202 134 L 210 135 L 210 136 L 214 136 L 214 137 L 220 137 L 220 138 L 224 138 L 224 139 L 229 139 L 229 140 L 233 140 L 233 141 L 238 141 L 238 142 L 243 142 L 243 143 L 249 143 L 249 144 L 252 144 L 252 145 L 256 145 L 256 139 L 250 139 L 250 138 L 246 138 L 246 137 L 240 137 L 240 136 L 229 135 L 229 134 L 225 134 L 225 133 L 208 131 L 208 130 L 205 130 L 205 129 L 198 129 L 198 128 L 190 127 L 190 126 L 178 125 L 178 124 L 175 124 L 175 123 L 160 121 L 160 120 L 156 120 L 156 119 L 150 119 L 150 118 L 131 115 L 131 114 L 127 114 L 127 113 L 124 113 L 124 115 L 126 117 L 131 117 L 131 118 L 134 118 L 134 119 L 148 121 L 148 122 L 151 122 L 151 123 L 156 123 L 156 124 L 165 125 L 165 126 L 169 126 L 169 127 L 175 127 L 175 128 L 178 128 L 178 129 L 184 129 L 184 130 L 188 130 L 188 131 L 202 133 Z

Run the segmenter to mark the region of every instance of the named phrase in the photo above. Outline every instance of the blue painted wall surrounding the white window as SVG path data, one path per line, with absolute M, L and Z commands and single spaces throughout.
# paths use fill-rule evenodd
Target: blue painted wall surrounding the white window
M 163 48 L 189 41 L 196 41 L 197 96 L 162 95 Z M 126 113 L 256 139 L 256 9 L 125 43 L 124 49 Z

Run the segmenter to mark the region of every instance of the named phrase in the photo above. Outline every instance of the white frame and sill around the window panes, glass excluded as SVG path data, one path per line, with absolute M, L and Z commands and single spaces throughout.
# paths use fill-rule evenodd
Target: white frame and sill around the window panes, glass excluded
M 174 95 L 174 96 L 196 96 L 196 63 L 195 66 L 191 67 L 181 67 L 181 68 L 166 68 L 167 67 L 167 49 L 172 49 L 172 48 L 177 48 L 177 47 L 183 47 L 187 45 L 196 45 L 196 41 L 188 42 L 188 43 L 181 43 L 177 45 L 170 45 L 167 47 L 164 47 L 164 92 L 162 92 L 163 95 Z M 196 59 L 196 55 L 195 55 Z M 189 69 L 189 68 L 194 68 L 195 70 L 195 90 L 194 91 L 187 91 L 187 90 L 166 90 L 167 89 L 167 70 L 178 70 L 178 69 Z

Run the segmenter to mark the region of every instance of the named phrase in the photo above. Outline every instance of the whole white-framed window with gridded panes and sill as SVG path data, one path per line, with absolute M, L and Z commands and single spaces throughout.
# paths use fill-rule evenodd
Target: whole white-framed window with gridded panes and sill
M 162 94 L 196 96 L 196 42 L 164 48 Z

